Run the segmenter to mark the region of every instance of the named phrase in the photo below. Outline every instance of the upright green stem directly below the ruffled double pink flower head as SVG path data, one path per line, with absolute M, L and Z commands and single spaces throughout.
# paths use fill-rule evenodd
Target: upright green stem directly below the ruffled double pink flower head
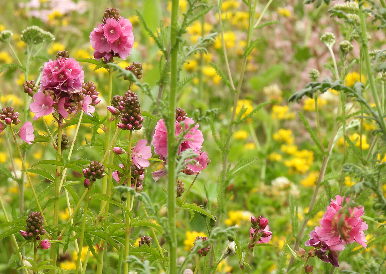
M 59 122 L 58 122 L 58 147 L 56 149 L 56 161 L 60 161 L 60 155 L 62 154 L 62 124 L 61 124 L 61 116 L 59 115 Z M 58 226 L 59 222 L 59 186 L 60 186 L 60 179 L 61 179 L 61 166 L 56 166 L 56 173 L 55 173 L 55 201 L 54 201 L 54 226 Z M 51 256 L 50 259 L 51 265 L 56 266 L 56 245 L 57 243 L 53 244 L 51 247 Z M 55 269 L 50 269 L 51 274 L 55 274 Z

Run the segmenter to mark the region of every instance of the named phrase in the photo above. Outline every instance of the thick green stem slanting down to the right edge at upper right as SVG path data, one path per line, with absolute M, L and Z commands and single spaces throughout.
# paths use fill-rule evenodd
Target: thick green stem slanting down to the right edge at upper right
M 367 69 L 367 75 L 369 77 L 371 93 L 378 111 L 379 120 L 381 120 L 382 131 L 385 133 L 386 123 L 385 123 L 385 120 L 383 119 L 383 111 L 381 110 L 381 105 L 379 104 L 379 97 L 375 87 L 374 75 L 372 74 L 369 47 L 367 45 L 368 41 L 367 41 L 366 22 L 365 22 L 364 14 L 362 10 L 359 12 L 359 18 L 361 18 L 361 30 L 362 30 L 362 40 L 363 40 L 362 50 L 363 50 L 364 59 L 366 62 L 366 69 Z

